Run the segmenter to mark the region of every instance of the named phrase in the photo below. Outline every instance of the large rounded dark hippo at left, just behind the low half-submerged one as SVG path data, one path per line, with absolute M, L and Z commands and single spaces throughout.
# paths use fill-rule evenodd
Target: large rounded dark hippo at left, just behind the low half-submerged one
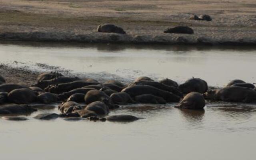
M 17 104 L 27 104 L 36 102 L 36 92 L 28 88 L 20 88 L 12 90 L 8 94 L 8 101 Z

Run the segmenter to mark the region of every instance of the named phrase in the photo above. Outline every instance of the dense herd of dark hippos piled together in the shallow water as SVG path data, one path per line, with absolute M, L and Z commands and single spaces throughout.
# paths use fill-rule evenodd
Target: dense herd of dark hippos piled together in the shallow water
M 176 108 L 203 110 L 205 99 L 226 102 L 256 102 L 253 84 L 242 80 L 232 80 L 224 88 L 209 90 L 206 81 L 191 78 L 183 84 L 165 78 L 159 82 L 143 76 L 130 84 L 117 80 L 99 83 L 90 78 L 67 77 L 58 72 L 42 73 L 37 82 L 30 86 L 8 84 L 0 76 L 0 114 L 26 114 L 37 111 L 32 103 L 58 106 L 60 114 L 38 114 L 37 119 L 64 117 L 66 120 L 134 121 L 132 115 L 107 116 L 119 105 L 150 103 L 166 104 L 178 102 Z M 8 120 L 26 120 L 20 116 L 2 117 Z

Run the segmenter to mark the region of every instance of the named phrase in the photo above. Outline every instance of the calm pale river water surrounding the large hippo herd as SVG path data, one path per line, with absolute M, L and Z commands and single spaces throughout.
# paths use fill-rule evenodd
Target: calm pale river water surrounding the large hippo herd
M 254 83 L 256 48 L 194 46 L 122 46 L 0 44 L 0 63 L 60 66 L 92 78 L 138 76 L 156 80 L 199 77 L 221 87 L 240 78 Z M 18 63 L 13 63 L 17 61 Z M 37 106 L 37 104 L 34 104 Z M 38 106 L 29 120 L 0 119 L 1 160 L 255 160 L 256 104 L 207 102 L 204 111 L 175 104 L 121 106 L 113 114 L 131 114 L 135 122 L 37 120 L 59 113 L 58 104 Z

